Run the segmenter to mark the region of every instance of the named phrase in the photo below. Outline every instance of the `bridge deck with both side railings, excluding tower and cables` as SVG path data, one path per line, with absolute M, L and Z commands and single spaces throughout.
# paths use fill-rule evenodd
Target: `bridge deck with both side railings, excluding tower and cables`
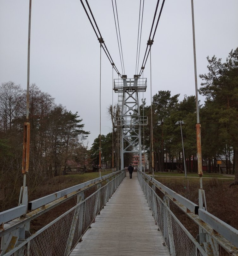
M 221 248 L 238 255 L 238 230 L 140 170 L 132 179 L 119 170 L 28 204 L 24 198 L 0 213 L 1 256 L 205 256 L 221 255 Z M 74 207 L 31 232 L 31 221 L 72 198 Z M 196 239 L 178 210 L 196 224 Z

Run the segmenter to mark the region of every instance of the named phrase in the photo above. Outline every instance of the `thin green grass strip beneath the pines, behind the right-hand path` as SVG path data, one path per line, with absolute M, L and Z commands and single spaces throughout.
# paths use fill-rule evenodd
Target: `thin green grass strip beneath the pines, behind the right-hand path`
M 148 175 L 152 176 L 152 173 L 146 173 Z M 178 173 L 176 171 L 174 172 L 154 172 L 154 176 L 174 176 L 174 177 L 184 177 L 184 173 Z M 187 177 L 199 177 L 197 173 L 191 173 L 189 172 L 187 174 Z M 226 176 L 225 174 L 219 174 L 219 173 L 203 173 L 203 178 L 226 178 L 234 180 L 234 177 L 232 176 Z

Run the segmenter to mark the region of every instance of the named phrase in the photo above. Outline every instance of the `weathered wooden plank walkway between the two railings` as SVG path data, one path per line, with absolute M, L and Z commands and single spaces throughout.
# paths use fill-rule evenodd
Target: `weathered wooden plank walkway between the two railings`
M 136 174 L 127 173 L 71 256 L 169 256 Z

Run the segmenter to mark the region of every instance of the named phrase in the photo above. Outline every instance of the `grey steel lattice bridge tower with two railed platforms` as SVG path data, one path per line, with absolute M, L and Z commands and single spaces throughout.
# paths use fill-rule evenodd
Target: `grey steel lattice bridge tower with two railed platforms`
M 120 155 L 121 168 L 124 168 L 124 153 L 138 153 L 140 157 L 139 169 L 142 171 L 141 156 L 141 127 L 148 124 L 148 118 L 140 115 L 140 103 L 138 93 L 146 91 L 146 78 L 114 79 L 114 91 L 118 93 L 118 105 L 121 116 L 115 118 L 115 126 L 121 129 Z

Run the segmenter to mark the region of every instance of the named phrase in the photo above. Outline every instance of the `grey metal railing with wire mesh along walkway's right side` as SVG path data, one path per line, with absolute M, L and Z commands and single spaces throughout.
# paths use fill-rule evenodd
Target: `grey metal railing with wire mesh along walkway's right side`
M 238 255 L 238 230 L 204 209 L 199 209 L 198 205 L 167 188 L 151 176 L 139 170 L 137 173 L 140 186 L 164 237 L 164 243 L 172 256 L 218 256 L 220 255 L 218 244 L 228 252 L 227 255 Z M 164 195 L 163 199 L 157 195 L 156 188 Z M 199 234 L 196 239 L 171 211 L 171 203 L 179 207 L 198 225 Z

